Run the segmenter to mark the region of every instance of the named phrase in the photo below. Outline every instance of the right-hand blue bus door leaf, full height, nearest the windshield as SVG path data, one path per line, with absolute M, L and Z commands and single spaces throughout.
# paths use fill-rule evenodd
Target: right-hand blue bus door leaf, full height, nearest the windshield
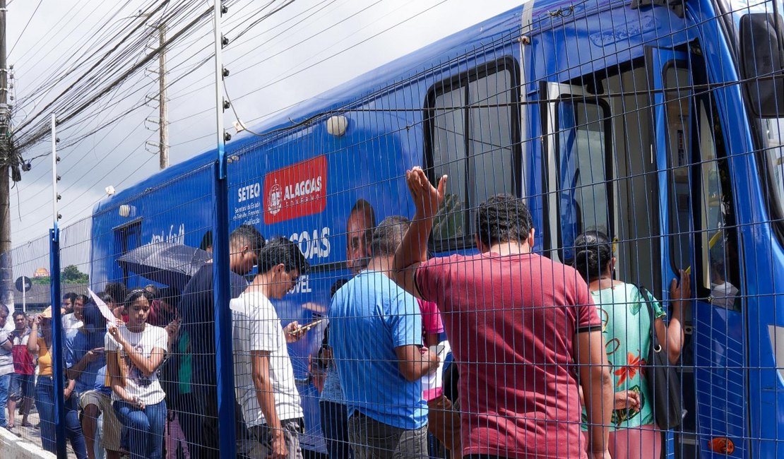
M 733 457 L 745 457 L 744 327 L 734 301 L 737 288 L 732 287 L 735 294 L 728 291 L 731 282 L 739 284 L 738 258 L 732 256 L 735 223 L 716 104 L 710 92 L 694 91 L 695 75 L 704 74 L 698 56 L 649 47 L 645 59 L 662 234 L 662 291 L 655 295 L 669 305 L 670 281 L 684 269 L 695 298 L 684 309 L 678 364 L 684 420 L 666 452 L 714 457 L 710 439 L 728 437 L 735 444 Z

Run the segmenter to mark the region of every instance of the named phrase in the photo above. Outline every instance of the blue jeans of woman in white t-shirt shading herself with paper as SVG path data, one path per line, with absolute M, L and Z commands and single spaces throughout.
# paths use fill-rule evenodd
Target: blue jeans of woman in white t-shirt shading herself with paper
M 122 400 L 112 406 L 122 425 L 128 428 L 131 459 L 161 459 L 166 402 L 147 405 L 143 410 Z

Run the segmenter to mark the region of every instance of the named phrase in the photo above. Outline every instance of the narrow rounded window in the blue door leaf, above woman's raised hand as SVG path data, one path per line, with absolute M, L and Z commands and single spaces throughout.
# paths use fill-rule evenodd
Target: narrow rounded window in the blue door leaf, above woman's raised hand
M 689 128 L 691 89 L 688 67 L 673 61 L 664 68 L 667 186 L 670 188 L 670 258 L 673 272 L 691 266 L 691 183 Z

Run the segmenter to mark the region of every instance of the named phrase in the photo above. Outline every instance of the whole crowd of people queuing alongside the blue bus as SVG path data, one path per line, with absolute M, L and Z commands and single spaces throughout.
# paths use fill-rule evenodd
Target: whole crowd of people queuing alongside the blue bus
M 476 209 L 478 253 L 430 258 L 446 177 L 433 186 L 413 168 L 406 180 L 411 220 L 376 225 L 360 200 L 347 222 L 352 276 L 332 285 L 310 362 L 328 457 L 430 457 L 439 447 L 458 458 L 659 457 L 641 352 L 653 331 L 678 360 L 688 275 L 670 284 L 668 316 L 615 279 L 601 232 L 575 240 L 572 266 L 535 254 L 528 208 L 504 194 Z M 230 235 L 229 267 L 238 455 L 303 457 L 289 345 L 311 327 L 271 300 L 310 265 L 291 240 L 243 225 Z M 207 262 L 182 291 L 107 284 L 98 296 L 110 320 L 88 296 L 64 296 L 65 428 L 76 457 L 220 457 L 214 282 Z M 4 330 L 8 313 L 0 305 Z M 54 451 L 52 311 L 14 313 L 8 332 L 0 425 L 13 431 L 17 408 L 29 424 L 34 400 L 42 446 Z

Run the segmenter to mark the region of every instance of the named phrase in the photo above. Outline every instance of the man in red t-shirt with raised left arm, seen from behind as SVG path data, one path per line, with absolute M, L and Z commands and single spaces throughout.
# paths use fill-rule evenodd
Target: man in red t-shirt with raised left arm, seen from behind
M 421 168 L 406 179 L 416 215 L 395 254 L 396 280 L 441 309 L 460 374 L 463 455 L 586 457 L 581 383 L 587 450 L 610 457 L 610 372 L 601 322 L 579 273 L 531 252 L 531 214 L 506 194 L 477 208 L 480 254 L 427 260 L 446 176 L 437 189 Z

